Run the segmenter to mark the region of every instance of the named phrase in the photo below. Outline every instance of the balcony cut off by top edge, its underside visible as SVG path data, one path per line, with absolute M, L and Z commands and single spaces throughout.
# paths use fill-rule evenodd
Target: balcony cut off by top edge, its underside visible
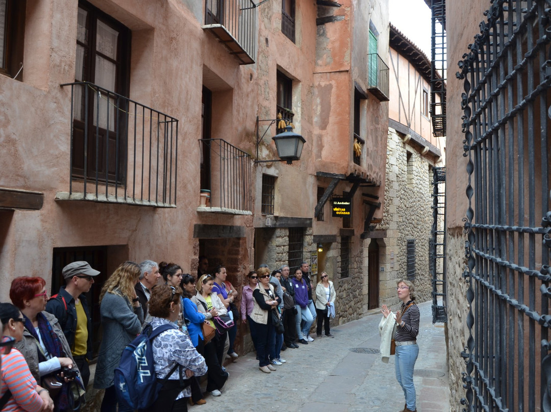
M 203 29 L 212 32 L 239 64 L 256 55 L 256 4 L 252 0 L 205 0 Z

